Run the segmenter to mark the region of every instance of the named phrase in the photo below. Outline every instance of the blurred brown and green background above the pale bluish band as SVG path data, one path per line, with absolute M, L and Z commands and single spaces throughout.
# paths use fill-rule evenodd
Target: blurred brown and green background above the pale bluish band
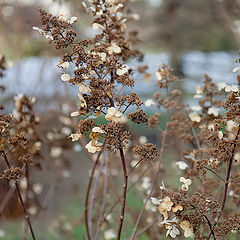
M 140 16 L 130 28 L 139 31 L 145 52 L 170 52 L 176 64 L 178 55 L 190 50 L 236 50 L 239 5 L 238 0 L 130 1 L 129 8 Z M 78 16 L 81 37 L 92 34 L 79 0 L 1 0 L 0 52 L 8 59 L 57 54 L 32 31 L 40 24 L 39 8 Z

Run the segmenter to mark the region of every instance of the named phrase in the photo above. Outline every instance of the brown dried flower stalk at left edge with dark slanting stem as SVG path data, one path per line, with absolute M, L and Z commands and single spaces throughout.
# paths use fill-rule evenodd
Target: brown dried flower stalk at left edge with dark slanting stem
M 3 71 L 5 70 L 5 61 L 4 57 L 1 58 L 0 61 L 0 78 L 3 77 Z M 21 98 L 21 99 L 20 99 Z M 30 127 L 31 124 L 34 124 L 33 122 L 37 120 L 34 118 L 34 115 L 32 115 L 31 121 L 28 122 L 28 125 L 20 127 L 20 122 L 22 121 L 22 116 L 24 113 L 22 112 L 23 105 L 27 106 L 27 109 L 29 110 L 31 108 L 31 105 L 33 104 L 32 99 L 28 99 L 25 96 L 21 96 L 16 100 L 16 110 L 15 110 L 15 117 L 16 114 L 18 114 L 18 118 L 5 115 L 4 113 L 0 114 L 0 132 L 1 132 L 1 138 L 0 138 L 0 156 L 4 159 L 5 164 L 7 166 L 7 169 L 4 170 L 4 173 L 0 176 L 0 179 L 12 181 L 15 185 L 17 195 L 20 201 L 20 204 L 22 205 L 24 215 L 26 222 L 28 224 L 32 239 L 36 239 L 32 223 L 30 220 L 30 216 L 26 207 L 26 204 L 23 200 L 21 190 L 19 187 L 19 180 L 24 177 L 24 168 L 28 166 L 29 164 L 32 164 L 32 158 L 30 156 L 30 151 L 34 151 L 34 145 L 32 143 L 30 144 L 28 142 L 28 139 L 25 137 L 24 130 Z M 3 110 L 4 107 L 1 105 L 1 109 Z M 25 112 L 25 116 L 28 115 L 28 111 Z M 20 130 L 21 128 L 21 130 Z M 31 135 L 31 134 L 30 134 Z M 31 135 L 32 140 L 35 138 L 34 133 Z M 8 152 L 6 153 L 6 150 Z M 32 154 L 34 155 L 35 152 L 32 151 Z M 8 159 L 7 155 L 14 155 L 16 157 L 17 166 L 11 166 L 11 163 Z

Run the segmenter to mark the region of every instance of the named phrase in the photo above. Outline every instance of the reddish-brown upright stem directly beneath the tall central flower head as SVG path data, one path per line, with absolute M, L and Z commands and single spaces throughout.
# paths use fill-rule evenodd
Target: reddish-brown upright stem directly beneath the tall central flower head
M 121 215 L 120 215 L 120 221 L 119 221 L 119 226 L 118 226 L 117 240 L 120 240 L 121 232 L 122 232 L 122 225 L 123 225 L 123 220 L 124 220 L 126 198 L 127 198 L 127 183 L 128 183 L 127 167 L 126 167 L 123 149 L 120 148 L 119 151 L 120 151 L 120 157 L 121 157 L 121 163 L 122 163 L 122 169 L 123 169 L 124 183 L 123 183 L 122 207 L 121 207 Z

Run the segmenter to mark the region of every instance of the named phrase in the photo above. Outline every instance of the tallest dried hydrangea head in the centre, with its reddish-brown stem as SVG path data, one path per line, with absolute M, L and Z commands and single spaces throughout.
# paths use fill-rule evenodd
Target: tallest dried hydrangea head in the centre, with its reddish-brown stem
M 127 21 L 138 19 L 137 15 L 124 11 L 126 3 L 118 0 L 82 3 L 86 12 L 94 18 L 92 27 L 96 36 L 92 39 L 78 39 L 72 29 L 75 18 L 69 20 L 65 16 L 52 16 L 44 10 L 40 10 L 43 28 L 35 29 L 49 38 L 56 49 L 71 47 L 58 64 L 62 71 L 61 80 L 77 86 L 81 93 L 78 94 L 79 109 L 71 113 L 73 117 L 80 116 L 79 129 L 70 137 L 73 141 L 89 137 L 91 140 L 85 148 L 92 154 L 101 154 L 104 148 L 120 152 L 125 181 L 123 199 L 126 198 L 127 184 L 123 149 L 131 138 L 124 114 L 131 106 L 140 108 L 142 104 L 136 93 L 123 94 L 125 88 L 134 86 L 133 70 L 126 61 L 142 57 L 133 47 L 133 43 L 138 41 L 136 33 L 126 31 Z M 69 68 L 73 66 L 72 75 Z M 105 115 L 107 120 L 101 126 L 96 124 L 100 115 Z M 129 117 L 136 123 L 148 122 L 146 114 L 139 109 Z M 117 239 L 121 235 L 124 209 L 125 203 L 122 205 Z

